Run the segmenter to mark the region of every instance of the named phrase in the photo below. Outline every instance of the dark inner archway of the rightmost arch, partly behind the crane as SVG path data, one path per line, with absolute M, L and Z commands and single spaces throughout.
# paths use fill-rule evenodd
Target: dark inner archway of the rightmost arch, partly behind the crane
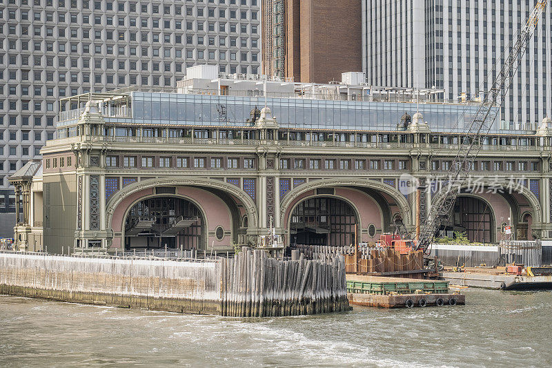
M 477 197 L 457 197 L 453 213 L 440 229 L 440 236 L 453 238 L 455 232 L 466 233 L 470 242 L 495 242 L 493 209 Z

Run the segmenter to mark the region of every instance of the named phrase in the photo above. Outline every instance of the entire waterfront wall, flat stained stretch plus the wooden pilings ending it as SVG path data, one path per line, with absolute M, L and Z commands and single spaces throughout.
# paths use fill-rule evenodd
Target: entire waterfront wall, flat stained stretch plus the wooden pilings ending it
M 0 253 L 0 293 L 222 316 L 294 316 L 349 310 L 344 262 L 144 260 Z

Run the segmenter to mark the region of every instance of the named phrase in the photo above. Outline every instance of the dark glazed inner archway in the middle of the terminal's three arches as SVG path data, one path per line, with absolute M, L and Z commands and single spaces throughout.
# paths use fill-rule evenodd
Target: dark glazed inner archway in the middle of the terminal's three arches
M 346 246 L 355 242 L 357 213 L 336 197 L 312 197 L 299 202 L 290 216 L 292 244 Z

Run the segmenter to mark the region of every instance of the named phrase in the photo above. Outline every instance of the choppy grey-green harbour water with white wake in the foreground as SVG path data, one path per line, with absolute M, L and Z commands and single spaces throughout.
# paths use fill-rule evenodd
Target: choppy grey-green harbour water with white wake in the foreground
M 240 320 L 0 296 L 0 367 L 551 367 L 552 292 Z

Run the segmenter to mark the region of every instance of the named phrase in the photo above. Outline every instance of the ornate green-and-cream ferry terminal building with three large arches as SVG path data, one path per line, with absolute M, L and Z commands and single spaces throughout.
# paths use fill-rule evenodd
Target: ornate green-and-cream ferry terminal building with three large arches
M 477 105 L 353 79 L 294 84 L 201 66 L 171 93 L 61 100 L 43 159 L 10 177 L 17 249 L 228 251 L 271 224 L 285 244 L 348 245 L 394 231 L 398 216 L 413 231 L 416 196 L 423 219 Z M 552 122 L 501 126 L 470 173 L 483 190 L 462 188 L 441 231 L 492 243 L 511 225 L 518 240 L 550 239 Z M 428 191 L 405 191 L 405 177 Z

